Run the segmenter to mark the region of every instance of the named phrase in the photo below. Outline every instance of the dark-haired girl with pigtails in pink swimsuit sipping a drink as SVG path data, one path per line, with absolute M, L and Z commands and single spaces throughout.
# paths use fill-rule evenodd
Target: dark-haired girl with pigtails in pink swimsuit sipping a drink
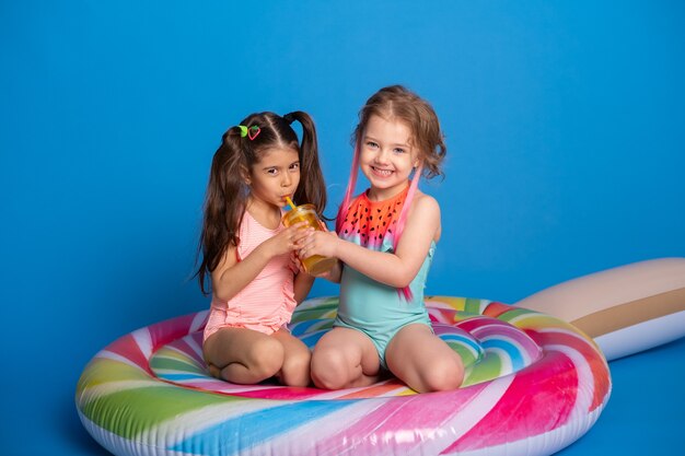
M 303 112 L 249 115 L 214 153 L 198 252 L 200 289 L 210 283 L 212 296 L 202 352 L 217 378 L 310 383 L 310 351 L 286 325 L 314 278 L 294 255 L 301 223 L 281 222 L 286 198 L 313 203 L 320 217 L 326 206 L 314 122 Z

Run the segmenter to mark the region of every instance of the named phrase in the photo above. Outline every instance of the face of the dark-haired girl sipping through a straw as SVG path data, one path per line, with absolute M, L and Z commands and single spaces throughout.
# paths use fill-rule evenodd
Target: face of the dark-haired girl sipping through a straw
M 268 149 L 249 169 L 247 184 L 253 202 L 282 208 L 300 184 L 300 157 L 291 148 Z

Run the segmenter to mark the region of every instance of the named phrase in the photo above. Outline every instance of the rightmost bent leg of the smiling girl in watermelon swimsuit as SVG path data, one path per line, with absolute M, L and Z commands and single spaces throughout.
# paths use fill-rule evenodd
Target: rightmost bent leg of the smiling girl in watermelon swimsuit
M 450 346 L 422 324 L 407 325 L 385 350 L 387 367 L 418 393 L 458 388 L 464 363 Z

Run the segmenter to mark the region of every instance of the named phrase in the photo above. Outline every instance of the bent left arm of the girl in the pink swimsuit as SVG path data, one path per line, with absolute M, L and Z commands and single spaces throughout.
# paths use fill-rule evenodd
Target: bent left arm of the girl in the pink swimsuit
M 221 301 L 231 300 L 255 280 L 271 258 L 291 252 L 294 248 L 292 236 L 301 224 L 289 226 L 276 236 L 266 239 L 241 261 L 235 255 L 236 247 L 229 246 L 219 266 L 211 273 L 214 296 Z

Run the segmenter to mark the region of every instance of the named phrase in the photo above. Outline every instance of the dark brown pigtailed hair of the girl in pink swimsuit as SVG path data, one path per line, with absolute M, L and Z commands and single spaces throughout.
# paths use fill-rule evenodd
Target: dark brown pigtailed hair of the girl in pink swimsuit
M 290 126 L 294 120 L 302 125 L 302 143 L 298 142 L 298 136 Z M 268 112 L 256 113 L 241 120 L 240 125 L 248 129 L 258 127 L 259 133 L 253 135 L 251 139 L 241 135 L 240 127 L 229 128 L 212 159 L 198 246 L 198 258 L 201 253 L 202 260 L 196 272 L 204 294 L 208 293 L 207 277 L 217 269 L 227 248 L 240 242 L 237 233 L 249 196 L 245 175 L 267 150 L 291 148 L 298 151 L 301 179 L 293 196 L 294 201 L 311 202 L 320 217 L 323 217 L 326 207 L 316 128 L 306 113 L 297 110 L 282 117 Z

